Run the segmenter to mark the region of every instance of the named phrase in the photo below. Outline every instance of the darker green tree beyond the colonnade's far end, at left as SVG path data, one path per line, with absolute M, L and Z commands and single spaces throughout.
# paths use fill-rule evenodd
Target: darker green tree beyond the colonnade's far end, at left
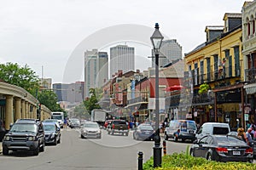
M 57 104 L 57 95 L 51 90 L 43 90 L 38 93 L 38 100 L 40 104 L 45 105 L 50 111 L 64 111 L 61 106 Z

